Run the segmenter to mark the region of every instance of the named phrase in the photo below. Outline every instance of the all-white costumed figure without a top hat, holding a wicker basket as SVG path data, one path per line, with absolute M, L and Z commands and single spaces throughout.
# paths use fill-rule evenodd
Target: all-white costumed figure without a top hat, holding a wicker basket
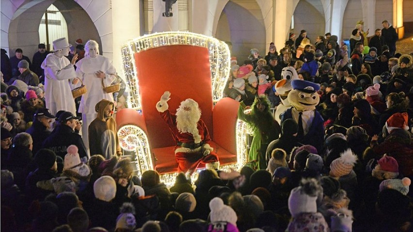
M 102 99 L 113 102 L 113 94 L 103 90 L 102 81 L 105 87 L 110 86 L 116 78 L 116 69 L 111 60 L 99 55 L 96 41 L 89 40 L 85 45 L 85 57 L 76 63 L 76 75 L 87 89 L 82 95 L 78 111 L 82 114 L 82 139 L 89 151 L 88 128 L 97 116 L 94 106 Z

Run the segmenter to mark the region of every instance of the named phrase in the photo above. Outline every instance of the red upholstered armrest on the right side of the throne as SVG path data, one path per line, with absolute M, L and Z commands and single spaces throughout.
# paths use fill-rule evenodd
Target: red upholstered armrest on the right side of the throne
M 232 154 L 237 154 L 236 128 L 239 102 L 224 97 L 212 110 L 212 140 Z

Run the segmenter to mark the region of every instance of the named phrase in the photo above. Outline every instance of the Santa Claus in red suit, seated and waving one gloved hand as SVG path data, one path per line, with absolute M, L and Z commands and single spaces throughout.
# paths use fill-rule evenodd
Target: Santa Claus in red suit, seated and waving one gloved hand
M 176 141 L 175 158 L 178 172 L 190 172 L 204 163 L 206 168 L 218 169 L 218 156 L 210 146 L 211 138 L 204 121 L 201 119 L 201 109 L 191 98 L 181 102 L 176 115 L 169 111 L 168 100 L 171 93 L 165 91 L 156 104 L 161 118 L 168 124 Z

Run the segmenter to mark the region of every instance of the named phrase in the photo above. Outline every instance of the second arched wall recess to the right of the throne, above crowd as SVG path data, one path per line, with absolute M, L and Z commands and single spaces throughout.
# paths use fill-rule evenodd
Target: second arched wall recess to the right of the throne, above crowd
M 300 0 L 294 9 L 294 31 L 298 36 L 301 30 L 315 44 L 318 35 L 325 33 L 325 15 L 321 0 Z

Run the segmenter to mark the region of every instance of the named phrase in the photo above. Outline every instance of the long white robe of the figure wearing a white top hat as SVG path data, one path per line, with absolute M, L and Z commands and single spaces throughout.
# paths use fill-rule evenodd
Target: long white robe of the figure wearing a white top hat
M 73 64 L 66 57 L 59 58 L 54 53 L 48 54 L 41 67 L 45 70 L 46 108 L 52 114 L 59 110 L 69 111 L 76 115 L 75 99 L 73 99 L 70 82 L 76 77 Z

